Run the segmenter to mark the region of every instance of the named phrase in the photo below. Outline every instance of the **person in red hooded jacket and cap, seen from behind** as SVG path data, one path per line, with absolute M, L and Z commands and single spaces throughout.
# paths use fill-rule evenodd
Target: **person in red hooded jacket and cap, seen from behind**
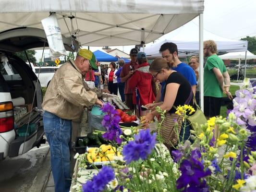
M 146 59 L 146 53 L 139 52 L 137 54 L 139 67 L 134 70 L 133 75 L 129 79 L 129 87 L 134 90 L 133 104 L 136 105 L 136 115 L 146 115 L 146 110 L 141 108 L 142 105 L 152 103 L 156 96 L 153 92 L 153 76 L 149 72 L 149 64 Z

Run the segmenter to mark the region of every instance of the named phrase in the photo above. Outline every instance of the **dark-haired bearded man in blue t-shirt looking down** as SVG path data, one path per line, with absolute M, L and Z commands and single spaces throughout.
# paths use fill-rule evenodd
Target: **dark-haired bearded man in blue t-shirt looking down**
M 189 65 L 179 60 L 177 45 L 171 42 L 164 43 L 163 45 L 161 45 L 159 51 L 161 52 L 162 57 L 171 64 L 172 70 L 175 70 L 181 73 L 188 80 L 188 82 L 192 86 L 192 91 L 195 95 L 195 87 L 197 84 L 195 72 Z M 159 102 L 160 100 L 163 101 L 162 93 L 164 90 L 165 82 L 162 82 L 161 86 L 162 86 L 161 93 L 158 92 L 158 95 L 156 97 L 156 102 Z

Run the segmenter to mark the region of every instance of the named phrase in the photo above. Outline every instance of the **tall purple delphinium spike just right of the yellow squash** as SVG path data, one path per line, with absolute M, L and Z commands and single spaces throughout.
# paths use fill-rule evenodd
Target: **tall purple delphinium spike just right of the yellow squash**
M 103 138 L 121 144 L 122 130 L 119 127 L 121 118 L 117 115 L 117 111 L 110 103 L 104 104 L 101 110 L 107 113 L 101 121 L 102 126 L 106 128 L 106 132 L 102 135 Z

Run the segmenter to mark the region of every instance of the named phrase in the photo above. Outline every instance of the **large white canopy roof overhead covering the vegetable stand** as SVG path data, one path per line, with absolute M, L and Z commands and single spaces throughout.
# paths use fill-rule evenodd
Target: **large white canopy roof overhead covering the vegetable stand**
M 0 31 L 43 28 L 41 20 L 56 12 L 62 34 L 81 45 L 119 46 L 152 42 L 203 13 L 204 1 L 1 0 L 0 6 Z

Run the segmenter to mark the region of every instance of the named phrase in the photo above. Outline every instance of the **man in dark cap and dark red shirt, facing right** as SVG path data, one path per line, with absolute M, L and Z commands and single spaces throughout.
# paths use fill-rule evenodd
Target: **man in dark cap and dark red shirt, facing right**
M 121 82 L 125 82 L 125 86 L 124 86 L 125 103 L 132 111 L 134 111 L 134 105 L 133 105 L 134 89 L 131 89 L 129 87 L 128 80 L 133 75 L 134 70 L 137 69 L 139 66 L 138 62 L 136 61 L 137 54 L 138 54 L 138 50 L 136 48 L 132 48 L 130 51 L 131 61 L 123 65 L 122 72 L 120 74 Z

